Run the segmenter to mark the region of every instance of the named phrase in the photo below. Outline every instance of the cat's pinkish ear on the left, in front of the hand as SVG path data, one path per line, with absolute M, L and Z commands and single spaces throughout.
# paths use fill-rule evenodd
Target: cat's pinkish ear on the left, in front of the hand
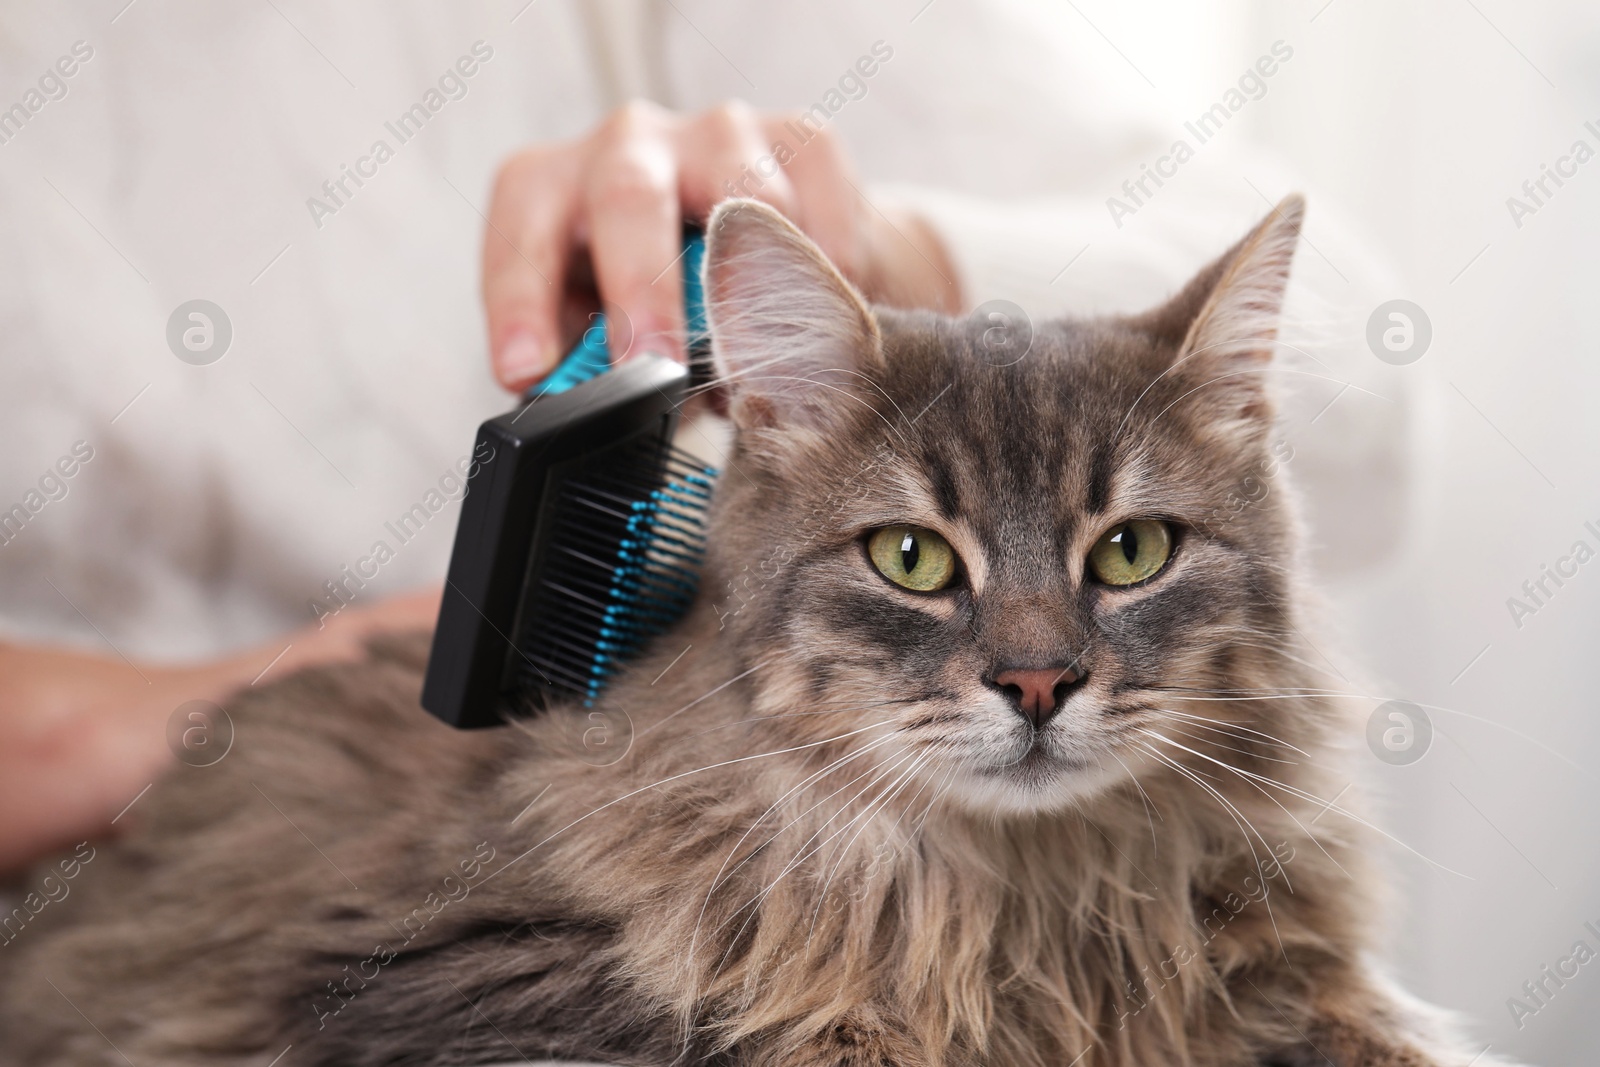
M 739 429 L 821 429 L 867 403 L 883 342 L 822 250 L 758 200 L 725 200 L 706 227 L 706 318 L 717 382 Z

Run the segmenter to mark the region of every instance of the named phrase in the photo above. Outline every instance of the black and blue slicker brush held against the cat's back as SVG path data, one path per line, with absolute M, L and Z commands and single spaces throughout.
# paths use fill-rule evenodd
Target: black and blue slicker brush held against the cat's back
M 610 366 L 598 317 L 515 411 L 478 427 L 450 553 L 422 707 L 496 726 L 552 699 L 592 705 L 606 681 L 688 609 L 717 472 L 672 445 L 710 341 L 699 267 L 683 243 L 690 366 Z

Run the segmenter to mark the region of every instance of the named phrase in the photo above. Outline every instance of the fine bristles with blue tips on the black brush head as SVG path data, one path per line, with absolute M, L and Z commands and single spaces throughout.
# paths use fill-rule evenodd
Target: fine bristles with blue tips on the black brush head
M 574 474 L 518 633 L 528 681 L 592 705 L 611 677 L 683 617 L 699 587 L 717 470 L 646 440 Z

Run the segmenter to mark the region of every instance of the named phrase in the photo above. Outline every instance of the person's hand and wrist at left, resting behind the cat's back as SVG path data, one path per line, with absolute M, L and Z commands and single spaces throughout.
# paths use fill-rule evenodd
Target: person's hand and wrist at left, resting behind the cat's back
M 166 720 L 181 704 L 226 707 L 250 685 L 360 659 L 376 633 L 432 629 L 438 598 L 432 589 L 349 606 L 325 625 L 182 667 L 0 645 L 0 875 L 107 833 L 174 761 Z

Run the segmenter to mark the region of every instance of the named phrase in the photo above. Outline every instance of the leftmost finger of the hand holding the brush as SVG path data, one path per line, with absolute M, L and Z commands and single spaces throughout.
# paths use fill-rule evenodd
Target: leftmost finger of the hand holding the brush
M 520 152 L 501 166 L 483 232 L 483 310 L 494 378 L 510 390 L 560 360 L 560 298 L 571 254 L 581 149 Z

